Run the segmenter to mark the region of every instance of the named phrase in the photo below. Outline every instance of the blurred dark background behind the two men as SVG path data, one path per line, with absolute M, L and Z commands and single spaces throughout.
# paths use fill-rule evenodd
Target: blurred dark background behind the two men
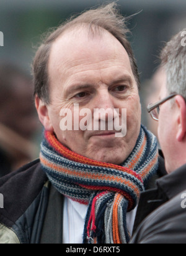
M 6 159 L 3 155 L 4 152 L 9 155 L 6 159 L 9 165 L 12 161 L 11 159 L 14 158 L 12 169 L 17 168 L 20 163 L 27 162 L 28 159 L 32 160 L 38 157 L 42 128 L 34 109 L 32 84 L 30 85 L 29 79 L 32 78 L 30 77 L 30 65 L 32 64 L 38 42 L 40 42 L 40 36 L 50 27 L 61 24 L 61 22 L 72 14 L 77 14 L 90 7 L 99 6 L 108 2 L 112 1 L 0 0 L 0 31 L 4 35 L 4 46 L 0 47 L 0 64 L 2 66 L 6 64 L 7 70 L 10 69 L 10 65 L 15 65 L 24 73 L 24 78 L 21 78 L 22 75 L 20 75 L 19 71 L 16 79 L 14 76 L 12 80 L 9 79 L 7 81 L 5 77 L 10 78 L 11 73 L 7 70 L 2 70 L 2 72 L 0 70 L 0 111 L 3 114 L 6 113 L 5 116 L 0 115 L 1 166 L 3 166 L 2 161 Z M 156 135 L 156 121 L 151 122 L 151 119 L 146 113 L 146 105 L 148 105 L 149 101 L 156 102 L 157 88 L 161 84 L 161 72 L 157 70 L 159 64 L 157 56 L 159 55 L 159 51 L 164 45 L 164 42 L 186 27 L 186 1 L 118 0 L 117 4 L 123 16 L 133 16 L 133 14 L 136 14 L 128 22 L 128 28 L 131 31 L 128 39 L 131 42 L 140 72 L 140 97 L 143 111 L 142 122 Z M 26 76 L 27 78 L 25 78 Z M 22 79 L 22 84 L 27 83 L 26 86 L 29 90 L 26 91 L 27 94 L 28 91 L 30 92 L 30 100 L 28 95 L 26 102 L 23 100 L 26 96 L 22 96 L 21 98 L 21 94 L 25 91 L 23 89 L 24 85 L 16 92 L 20 98 L 15 95 L 10 97 L 10 93 L 4 90 L 5 87 L 13 90 L 11 87 L 16 87 L 16 84 L 18 84 L 18 82 L 15 83 L 17 79 L 19 80 L 19 85 L 21 84 L 20 79 Z M 6 82 L 3 85 L 2 81 L 5 80 Z M 3 90 L 1 90 L 2 88 Z M 15 98 L 17 102 L 15 102 Z M 22 106 L 18 108 L 21 102 Z M 4 110 L 4 107 L 6 107 L 6 110 Z M 20 111 L 23 108 L 25 113 Z M 5 118 L 7 116 L 9 118 Z M 20 121 L 22 117 L 23 119 Z M 14 120 L 14 124 L 10 124 L 6 119 L 12 120 L 12 122 Z M 21 123 L 19 125 L 21 127 L 18 127 L 16 122 Z M 33 131 L 32 133 L 29 131 L 29 128 Z M 27 130 L 27 134 L 24 134 L 24 130 Z M 15 136 L 15 133 L 17 136 Z M 17 141 L 13 138 L 17 138 Z M 17 150 L 20 151 L 18 154 Z M 17 155 L 19 156 L 19 161 L 17 161 Z M 22 155 L 21 161 L 20 155 Z M 3 169 L 10 169 L 6 163 L 4 164 L 6 168 Z

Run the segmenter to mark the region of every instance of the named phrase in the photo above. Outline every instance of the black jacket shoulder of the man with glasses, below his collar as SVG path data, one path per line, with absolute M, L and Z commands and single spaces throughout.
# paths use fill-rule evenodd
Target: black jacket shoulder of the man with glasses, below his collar
M 180 192 L 139 225 L 131 244 L 185 244 L 186 191 Z

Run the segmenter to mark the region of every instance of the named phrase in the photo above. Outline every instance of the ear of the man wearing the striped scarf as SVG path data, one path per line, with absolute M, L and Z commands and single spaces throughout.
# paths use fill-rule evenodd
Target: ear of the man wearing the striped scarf
M 48 115 L 47 105 L 38 97 L 38 95 L 35 96 L 35 107 L 37 109 L 38 118 L 45 127 L 45 130 L 53 131 L 53 126 L 51 125 L 50 117 Z

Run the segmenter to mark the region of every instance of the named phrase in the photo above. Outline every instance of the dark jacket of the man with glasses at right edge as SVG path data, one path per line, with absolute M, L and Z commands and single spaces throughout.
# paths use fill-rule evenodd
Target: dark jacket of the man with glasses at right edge
M 152 210 L 154 205 L 156 207 L 157 204 L 161 204 L 161 206 L 139 225 L 131 239 L 131 244 L 186 243 L 185 189 L 186 164 L 158 179 L 156 189 L 141 194 L 140 207 L 143 204 Z

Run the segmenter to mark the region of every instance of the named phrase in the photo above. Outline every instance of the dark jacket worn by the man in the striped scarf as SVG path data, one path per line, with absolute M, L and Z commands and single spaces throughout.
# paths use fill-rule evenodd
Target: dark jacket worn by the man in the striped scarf
M 163 174 L 160 157 L 158 176 Z M 1 178 L 0 193 L 0 244 L 62 242 L 63 196 L 51 186 L 39 159 Z

